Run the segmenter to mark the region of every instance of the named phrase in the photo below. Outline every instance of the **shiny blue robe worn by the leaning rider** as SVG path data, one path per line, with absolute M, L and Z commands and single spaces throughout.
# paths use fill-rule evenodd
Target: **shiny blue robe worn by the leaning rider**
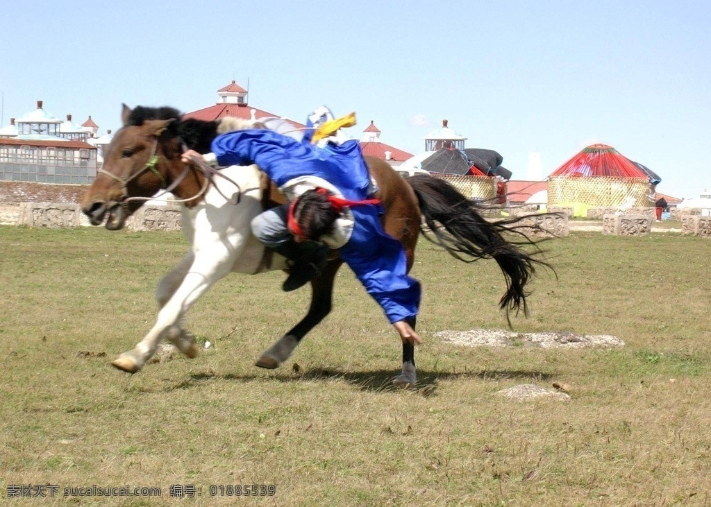
M 264 129 L 224 133 L 211 149 L 220 165 L 255 163 L 279 187 L 299 176 L 319 176 L 348 200 L 368 199 L 370 175 L 358 141 L 323 148 Z M 390 323 L 417 315 L 421 289 L 407 275 L 405 249 L 385 234 L 380 205 L 352 206 L 353 234 L 341 247 L 341 258 L 353 270 L 365 290 L 383 308 Z

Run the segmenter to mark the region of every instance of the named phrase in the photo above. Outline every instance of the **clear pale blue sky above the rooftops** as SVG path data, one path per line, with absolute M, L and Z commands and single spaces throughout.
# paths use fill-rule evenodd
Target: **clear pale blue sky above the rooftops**
M 542 177 L 601 142 L 675 197 L 711 191 L 711 3 L 668 1 L 6 2 L 2 125 L 43 100 L 120 127 L 121 104 L 193 111 L 249 84 L 304 121 L 327 104 L 419 153 L 449 120 L 469 148 Z

